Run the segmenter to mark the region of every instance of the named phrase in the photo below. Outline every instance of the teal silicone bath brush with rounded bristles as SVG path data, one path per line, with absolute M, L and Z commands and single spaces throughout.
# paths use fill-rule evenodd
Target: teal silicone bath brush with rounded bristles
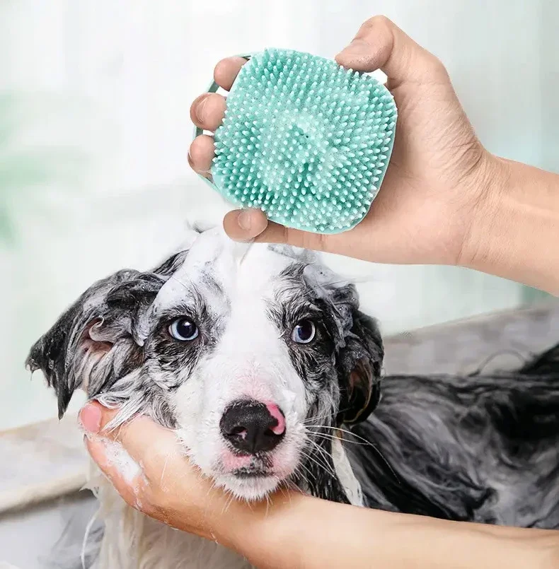
M 379 191 L 396 115 L 375 78 L 322 57 L 266 49 L 243 65 L 227 98 L 212 185 L 236 206 L 291 228 L 348 230 Z

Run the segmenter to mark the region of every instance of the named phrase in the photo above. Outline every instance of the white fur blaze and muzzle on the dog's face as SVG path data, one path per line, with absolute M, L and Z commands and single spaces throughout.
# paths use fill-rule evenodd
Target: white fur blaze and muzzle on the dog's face
M 274 279 L 291 262 L 266 246 L 232 242 L 219 228 L 206 231 L 191 243 L 183 266 L 161 288 L 145 331 L 147 336 L 157 316 L 188 295 L 188 283 L 199 283 L 211 264 L 212 276 L 226 291 L 229 306 L 211 290 L 203 292 L 207 304 L 226 315 L 226 329 L 217 349 L 198 363 L 178 389 L 173 411 L 180 425 L 178 435 L 192 461 L 218 486 L 248 500 L 263 498 L 293 473 L 306 440 L 305 387 L 284 340 L 267 317 Z M 277 472 L 266 479 L 239 480 L 221 459 L 227 447 L 219 421 L 226 406 L 237 399 L 272 401 L 285 415 L 286 435 L 273 452 Z

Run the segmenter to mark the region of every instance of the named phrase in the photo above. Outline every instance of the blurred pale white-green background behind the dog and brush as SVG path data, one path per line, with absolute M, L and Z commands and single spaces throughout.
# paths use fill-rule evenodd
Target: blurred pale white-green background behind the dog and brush
M 0 0 L 0 430 L 54 416 L 23 361 L 79 293 L 159 261 L 185 221 L 221 220 L 187 163 L 214 64 L 264 47 L 333 57 L 376 13 L 444 61 L 490 151 L 559 169 L 552 0 Z M 463 269 L 332 264 L 385 334 L 543 298 Z

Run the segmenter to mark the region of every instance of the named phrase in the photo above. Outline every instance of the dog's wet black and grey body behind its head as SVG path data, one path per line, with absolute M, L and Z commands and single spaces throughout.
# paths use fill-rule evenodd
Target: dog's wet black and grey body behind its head
M 372 508 L 559 528 L 559 346 L 512 373 L 386 377 L 351 431 Z

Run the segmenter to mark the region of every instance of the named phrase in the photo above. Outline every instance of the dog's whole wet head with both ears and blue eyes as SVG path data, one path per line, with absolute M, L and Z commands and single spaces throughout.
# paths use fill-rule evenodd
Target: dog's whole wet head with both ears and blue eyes
M 74 389 L 173 428 L 218 485 L 347 501 L 332 428 L 379 399 L 382 346 L 355 288 L 311 253 L 195 233 L 154 271 L 91 286 L 33 346 L 62 415 Z M 325 483 L 328 479 L 328 483 Z

